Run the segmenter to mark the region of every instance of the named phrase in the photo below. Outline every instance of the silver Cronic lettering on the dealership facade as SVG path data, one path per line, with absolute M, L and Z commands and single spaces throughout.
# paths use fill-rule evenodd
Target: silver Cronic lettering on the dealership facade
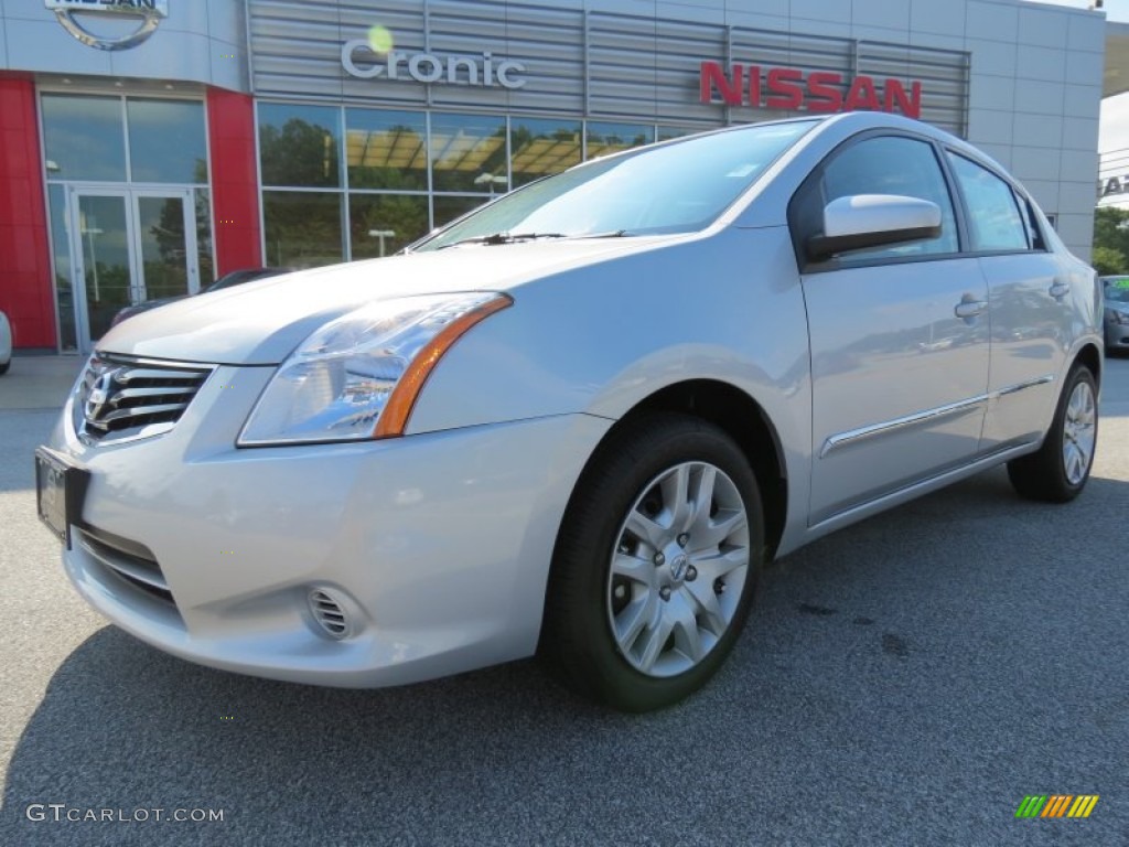
M 364 51 L 366 61 L 357 63 L 358 52 Z M 362 54 L 364 55 L 364 54 Z M 450 55 L 444 59 L 431 53 L 405 53 L 391 50 L 377 53 L 364 38 L 347 41 L 341 45 L 341 67 L 350 77 L 359 79 L 414 79 L 417 82 L 446 82 L 449 85 L 472 85 L 492 88 L 520 88 L 524 79 L 515 77 L 525 71 L 522 62 L 513 59 L 497 60 L 489 52 L 478 55 Z

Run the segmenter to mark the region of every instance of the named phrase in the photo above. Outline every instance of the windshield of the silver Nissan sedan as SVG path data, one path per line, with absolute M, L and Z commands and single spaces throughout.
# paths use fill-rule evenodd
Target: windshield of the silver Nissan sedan
M 596 159 L 483 207 L 413 251 L 482 239 L 692 233 L 712 224 L 814 121 L 680 139 Z M 491 237 L 492 236 L 492 237 Z

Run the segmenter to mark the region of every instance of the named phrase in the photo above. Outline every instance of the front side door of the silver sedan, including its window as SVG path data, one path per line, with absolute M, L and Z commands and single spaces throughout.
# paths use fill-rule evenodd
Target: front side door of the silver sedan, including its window
M 819 264 L 800 256 L 812 346 L 812 524 L 977 453 L 988 289 L 978 261 L 961 254 L 942 155 L 914 136 L 864 136 L 833 151 L 789 208 L 797 245 L 840 197 L 900 194 L 942 209 L 937 238 Z

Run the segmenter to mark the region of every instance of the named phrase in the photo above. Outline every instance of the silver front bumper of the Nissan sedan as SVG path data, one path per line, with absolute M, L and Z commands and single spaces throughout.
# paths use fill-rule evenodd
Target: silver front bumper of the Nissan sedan
M 236 448 L 271 373 L 220 367 L 169 433 L 119 446 L 80 443 L 64 409 L 51 446 L 90 472 L 89 535 L 63 552 L 82 596 L 168 653 L 296 682 L 399 684 L 531 655 L 561 516 L 612 421 Z M 115 557 L 151 561 L 167 592 Z M 318 588 L 347 637 L 318 627 Z

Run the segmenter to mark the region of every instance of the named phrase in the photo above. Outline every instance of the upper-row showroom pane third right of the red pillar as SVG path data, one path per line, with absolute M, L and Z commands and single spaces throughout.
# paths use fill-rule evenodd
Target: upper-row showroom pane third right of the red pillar
M 430 149 L 436 191 L 509 189 L 505 117 L 435 114 Z

